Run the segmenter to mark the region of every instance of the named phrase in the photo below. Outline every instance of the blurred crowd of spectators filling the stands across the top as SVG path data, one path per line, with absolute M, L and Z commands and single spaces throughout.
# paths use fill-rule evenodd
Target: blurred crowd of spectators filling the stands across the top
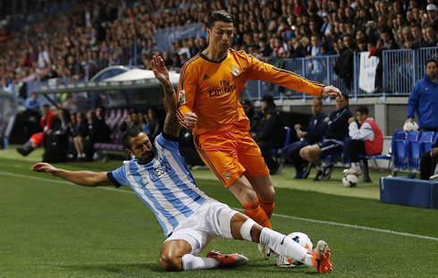
M 28 1 L 29 2 L 29 1 Z M 50 3 L 47 2 L 47 4 Z M 434 0 L 80 0 L 67 11 L 10 31 L 0 42 L 0 78 L 5 90 L 31 80 L 92 77 L 108 65 L 128 64 L 139 55 L 150 69 L 160 54 L 178 70 L 206 47 L 205 34 L 178 39 L 172 51 L 156 49 L 154 30 L 205 23 L 225 9 L 235 16 L 233 46 L 269 61 L 341 55 L 382 49 L 436 46 L 438 8 Z M 35 10 L 32 8 L 35 5 Z M 44 2 L 27 3 L 29 13 Z M 133 45 L 136 44 L 136 47 Z

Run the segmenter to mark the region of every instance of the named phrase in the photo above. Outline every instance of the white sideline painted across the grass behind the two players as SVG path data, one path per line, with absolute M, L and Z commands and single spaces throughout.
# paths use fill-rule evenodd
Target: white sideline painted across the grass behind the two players
M 3 174 L 5 176 L 11 176 L 11 177 L 17 177 L 17 178 L 26 178 L 26 179 L 37 180 L 37 181 L 49 181 L 49 182 L 53 182 L 53 183 L 75 185 L 74 183 L 72 183 L 70 181 L 57 181 L 57 180 L 52 180 L 52 179 L 39 178 L 39 177 L 35 177 L 35 176 L 32 176 L 32 175 L 28 175 L 28 174 L 7 173 L 7 172 L 2 172 L 2 171 L 0 171 L 0 174 Z M 135 194 L 135 192 L 133 192 L 133 191 L 117 190 L 117 189 L 114 189 L 114 188 L 111 188 L 111 187 L 96 187 L 96 189 L 98 189 L 98 190 L 116 191 L 116 192 L 120 192 L 120 193 Z M 238 211 L 242 211 L 241 208 L 232 207 L 232 209 L 238 210 Z M 366 226 L 351 225 L 351 224 L 346 224 L 346 223 L 336 223 L 336 222 L 308 219 L 308 218 L 302 218 L 302 217 L 291 216 L 291 215 L 278 215 L 278 214 L 273 214 L 273 215 L 274 216 L 278 216 L 278 217 L 282 217 L 282 218 L 306 221 L 306 222 L 311 222 L 311 223 L 322 223 L 322 224 L 327 224 L 327 225 L 341 226 L 341 227 L 360 229 L 360 230 L 366 230 L 366 231 L 392 233 L 392 234 L 396 234 L 396 235 L 400 235 L 400 236 L 412 237 L 412 238 L 417 238 L 417 239 L 422 239 L 422 240 L 434 240 L 434 241 L 438 241 L 438 238 L 424 236 L 424 235 L 419 235 L 419 234 L 414 234 L 414 233 L 408 233 L 408 232 L 396 232 L 396 231 L 391 231 L 391 230 L 383 230 L 383 229 L 371 228 L 371 227 L 366 227 Z

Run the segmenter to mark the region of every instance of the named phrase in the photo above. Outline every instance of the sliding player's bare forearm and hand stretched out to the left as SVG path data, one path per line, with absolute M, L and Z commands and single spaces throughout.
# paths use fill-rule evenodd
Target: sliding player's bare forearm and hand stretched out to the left
M 38 163 L 32 166 L 33 172 L 38 173 L 47 173 L 55 177 L 59 177 L 66 181 L 72 181 L 73 183 L 82 185 L 82 186 L 109 186 L 113 185 L 113 182 L 108 179 L 106 173 L 95 173 L 89 171 L 67 171 L 63 169 L 58 169 L 52 166 L 51 164 L 46 163 Z

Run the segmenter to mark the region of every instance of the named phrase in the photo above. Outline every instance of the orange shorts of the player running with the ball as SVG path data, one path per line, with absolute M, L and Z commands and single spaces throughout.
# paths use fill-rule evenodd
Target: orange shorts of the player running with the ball
M 226 188 L 242 174 L 246 177 L 269 174 L 249 131 L 233 128 L 208 132 L 195 136 L 194 141 L 199 156 Z

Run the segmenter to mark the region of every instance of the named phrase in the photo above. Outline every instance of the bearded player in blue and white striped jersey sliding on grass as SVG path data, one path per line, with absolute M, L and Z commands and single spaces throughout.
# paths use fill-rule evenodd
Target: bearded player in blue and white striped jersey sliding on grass
M 123 162 L 113 172 L 72 172 L 38 163 L 32 170 L 48 173 L 88 187 L 129 186 L 154 212 L 167 237 L 159 263 L 168 271 L 208 269 L 217 266 L 245 265 L 248 258 L 239 254 L 212 251 L 206 257 L 196 255 L 214 237 L 250 240 L 262 243 L 284 257 L 297 259 L 320 273 L 332 271 L 330 250 L 319 240 L 310 254 L 307 249 L 279 232 L 264 228 L 229 206 L 208 198 L 198 189 L 187 164 L 179 152 L 179 123 L 176 120 L 177 99 L 169 73 L 161 57 L 152 61 L 156 79 L 164 88 L 164 131 L 151 142 L 141 127 L 127 126 L 123 146 L 131 161 Z

